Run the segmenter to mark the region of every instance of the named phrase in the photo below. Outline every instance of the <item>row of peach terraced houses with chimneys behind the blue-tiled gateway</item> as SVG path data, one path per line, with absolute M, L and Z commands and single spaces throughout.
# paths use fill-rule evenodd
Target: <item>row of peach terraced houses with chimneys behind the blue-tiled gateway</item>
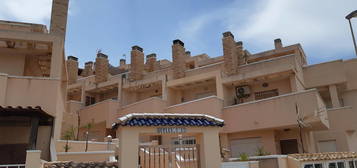
M 223 33 L 222 44 L 223 56 L 209 57 L 191 55 L 174 40 L 172 61 L 133 46 L 131 63 L 121 59 L 118 67 L 101 52 L 83 69 L 69 56 L 62 132 L 79 128 L 80 140 L 89 131 L 89 139 L 103 141 L 116 136 L 112 124 L 127 114 L 192 113 L 224 120 L 221 153 L 231 157 L 357 151 L 356 58 L 308 65 L 300 44 L 283 46 L 280 39 L 274 49 L 252 54 L 230 32 Z M 141 139 L 152 141 L 177 143 Z

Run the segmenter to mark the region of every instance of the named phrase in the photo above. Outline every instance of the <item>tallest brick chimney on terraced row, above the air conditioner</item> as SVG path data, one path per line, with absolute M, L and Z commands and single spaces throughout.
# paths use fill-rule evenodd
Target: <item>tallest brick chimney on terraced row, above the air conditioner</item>
M 232 75 L 237 72 L 238 66 L 237 47 L 233 34 L 231 32 L 224 32 L 222 43 L 224 71 L 227 75 Z

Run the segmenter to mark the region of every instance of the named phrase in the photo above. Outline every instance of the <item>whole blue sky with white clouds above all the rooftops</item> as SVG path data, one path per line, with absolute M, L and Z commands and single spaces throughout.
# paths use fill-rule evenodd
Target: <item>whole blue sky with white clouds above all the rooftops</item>
M 356 0 L 71 0 L 66 55 L 80 66 L 101 49 L 117 66 L 133 45 L 171 60 L 174 39 L 192 55 L 222 55 L 222 32 L 232 31 L 251 53 L 302 44 L 309 63 L 354 57 L 344 16 Z M 49 24 L 51 0 L 2 0 L 0 19 Z M 357 18 L 353 20 L 357 31 Z

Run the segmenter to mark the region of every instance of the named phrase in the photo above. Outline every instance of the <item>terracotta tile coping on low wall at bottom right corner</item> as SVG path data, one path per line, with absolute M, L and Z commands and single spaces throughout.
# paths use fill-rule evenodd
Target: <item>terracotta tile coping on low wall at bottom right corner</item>
M 357 158 L 356 152 L 325 152 L 325 153 L 303 153 L 290 154 L 290 158 L 298 161 L 321 161 Z

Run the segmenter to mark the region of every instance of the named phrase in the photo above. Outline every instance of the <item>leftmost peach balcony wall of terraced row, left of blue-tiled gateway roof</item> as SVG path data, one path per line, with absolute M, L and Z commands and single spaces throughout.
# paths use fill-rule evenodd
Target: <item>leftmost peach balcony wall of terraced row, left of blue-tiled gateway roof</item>
M 108 99 L 81 109 L 81 126 L 92 122 L 105 122 L 106 128 L 111 128 L 111 124 L 116 121 L 118 107 L 117 100 Z

